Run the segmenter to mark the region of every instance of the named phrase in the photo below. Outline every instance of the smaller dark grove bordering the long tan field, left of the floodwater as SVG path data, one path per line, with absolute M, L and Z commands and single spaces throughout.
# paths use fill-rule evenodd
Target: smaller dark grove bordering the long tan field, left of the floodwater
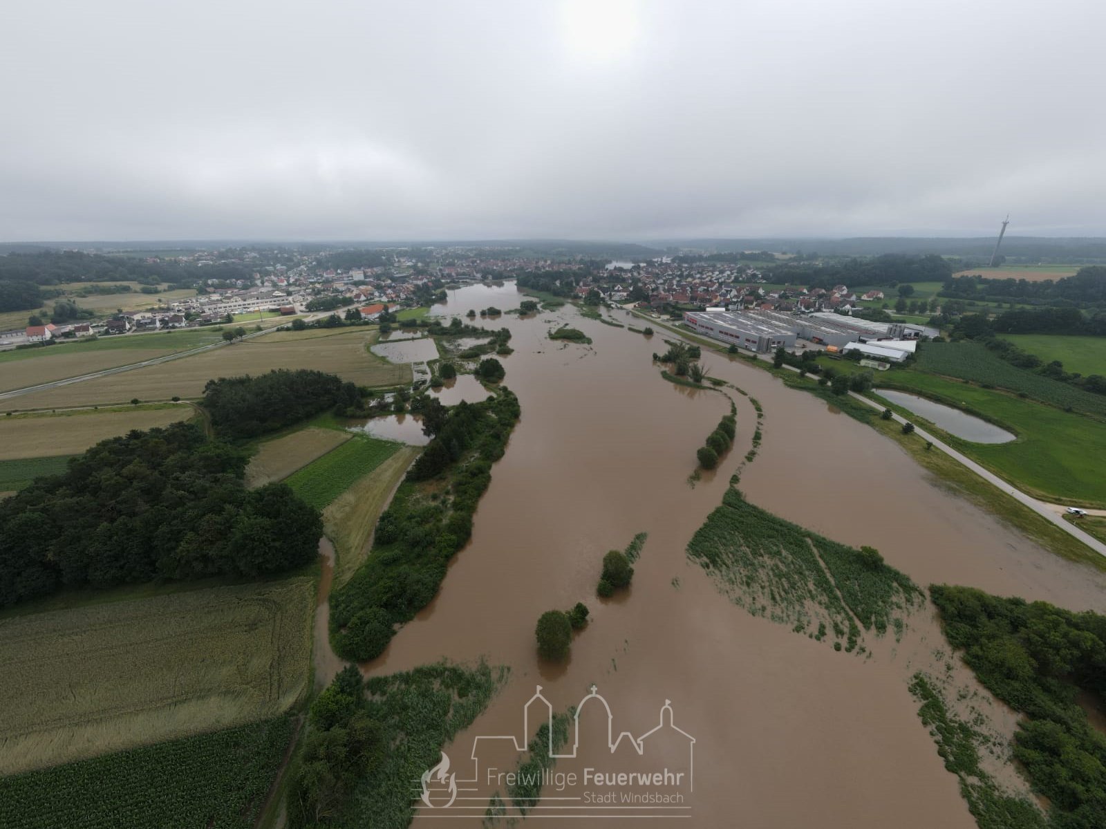
M 211 426 L 223 437 L 257 437 L 324 412 L 345 400 L 352 384 L 333 374 L 300 369 L 276 369 L 255 377 L 219 377 L 204 386 L 204 408 Z M 356 387 L 352 394 L 357 395 Z

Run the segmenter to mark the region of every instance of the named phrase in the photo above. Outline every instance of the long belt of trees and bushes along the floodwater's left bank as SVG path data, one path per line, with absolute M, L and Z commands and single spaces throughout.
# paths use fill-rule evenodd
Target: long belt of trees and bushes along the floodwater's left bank
M 472 533 L 472 514 L 519 413 L 518 398 L 504 387 L 449 410 L 377 521 L 367 561 L 331 597 L 331 635 L 340 655 L 376 659 L 396 625 L 434 599 L 449 559 Z

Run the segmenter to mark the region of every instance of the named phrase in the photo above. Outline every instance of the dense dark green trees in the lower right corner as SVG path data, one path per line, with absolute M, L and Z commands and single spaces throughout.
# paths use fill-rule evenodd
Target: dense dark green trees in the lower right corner
M 1106 616 L 972 588 L 930 588 L 949 643 L 997 697 L 1024 715 L 1014 758 L 1048 798 L 1051 825 L 1106 826 L 1106 736 L 1076 702 L 1106 700 Z

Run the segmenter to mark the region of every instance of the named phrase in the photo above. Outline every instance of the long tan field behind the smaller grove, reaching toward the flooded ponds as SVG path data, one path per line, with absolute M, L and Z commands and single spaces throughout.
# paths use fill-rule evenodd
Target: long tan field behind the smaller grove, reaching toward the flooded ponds
M 409 365 L 393 365 L 369 353 L 367 346 L 376 340 L 375 330 L 358 329 L 333 336 L 295 336 L 299 333 L 267 334 L 160 365 L 33 392 L 9 404 L 28 410 L 126 403 L 135 397 L 199 398 L 209 380 L 263 374 L 273 369 L 316 369 L 366 386 L 411 382 Z

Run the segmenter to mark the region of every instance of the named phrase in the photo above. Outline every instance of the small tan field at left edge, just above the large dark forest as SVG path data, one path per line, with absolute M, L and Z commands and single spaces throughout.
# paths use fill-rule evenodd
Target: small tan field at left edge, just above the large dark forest
M 79 455 L 108 437 L 168 426 L 194 414 L 190 405 L 180 404 L 0 417 L 0 460 Z

